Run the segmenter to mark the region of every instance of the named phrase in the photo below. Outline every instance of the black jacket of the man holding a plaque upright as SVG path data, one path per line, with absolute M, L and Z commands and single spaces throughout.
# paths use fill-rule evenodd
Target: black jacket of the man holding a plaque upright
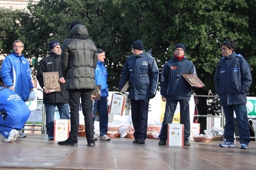
M 59 78 L 63 77 L 60 67 L 60 55 L 56 53 L 52 53 L 49 57 L 45 57 L 40 60 L 40 64 L 37 69 L 36 78 L 40 84 L 40 86 L 44 87 L 44 76 L 45 72 L 59 72 Z M 68 103 L 68 92 L 65 90 L 65 83 L 60 84 L 61 91 L 60 92 L 52 92 L 49 94 L 45 94 L 44 92 L 44 104 L 45 103 Z

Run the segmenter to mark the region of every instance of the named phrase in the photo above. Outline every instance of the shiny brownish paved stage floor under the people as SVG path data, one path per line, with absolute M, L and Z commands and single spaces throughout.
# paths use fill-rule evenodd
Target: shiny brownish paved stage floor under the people
M 60 146 L 48 141 L 46 134 L 27 134 L 13 143 L 0 142 L 0 169 L 255 169 L 256 142 L 248 150 L 221 148 L 221 141 L 191 146 L 159 146 L 158 139 L 145 145 L 133 144 L 132 138 L 96 141 L 89 147 L 85 137 L 78 146 Z

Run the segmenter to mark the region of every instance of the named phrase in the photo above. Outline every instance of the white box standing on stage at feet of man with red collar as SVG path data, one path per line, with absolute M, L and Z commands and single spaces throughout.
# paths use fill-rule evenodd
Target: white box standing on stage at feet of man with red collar
M 184 124 L 168 124 L 167 146 L 184 146 Z

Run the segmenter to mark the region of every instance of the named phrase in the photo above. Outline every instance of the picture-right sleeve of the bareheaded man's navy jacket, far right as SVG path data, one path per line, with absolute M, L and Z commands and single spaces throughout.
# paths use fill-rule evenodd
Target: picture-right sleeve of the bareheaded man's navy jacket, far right
M 250 66 L 246 60 L 242 60 L 240 63 L 241 71 L 241 90 L 246 93 L 249 91 L 252 84 L 252 73 L 250 71 Z

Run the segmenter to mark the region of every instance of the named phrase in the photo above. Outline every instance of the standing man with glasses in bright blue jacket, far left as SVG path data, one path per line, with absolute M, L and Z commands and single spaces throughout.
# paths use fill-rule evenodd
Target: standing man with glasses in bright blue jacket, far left
M 22 54 L 24 43 L 15 40 L 12 45 L 13 52 L 4 60 L 1 67 L 1 77 L 4 85 L 15 91 L 23 101 L 28 101 L 30 92 L 33 91 L 31 69 L 28 60 Z M 20 129 L 20 136 L 26 137 Z

